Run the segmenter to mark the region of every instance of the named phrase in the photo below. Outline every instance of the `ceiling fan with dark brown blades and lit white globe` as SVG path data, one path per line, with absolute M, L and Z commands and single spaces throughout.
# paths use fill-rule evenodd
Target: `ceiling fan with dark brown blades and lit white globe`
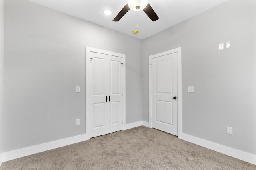
M 119 21 L 124 16 L 124 14 L 126 14 L 126 12 L 128 12 L 130 9 L 133 11 L 143 10 L 152 21 L 156 21 L 159 18 L 156 15 L 156 12 L 154 12 L 153 8 L 150 6 L 150 4 L 148 4 L 148 0 L 128 0 L 127 4 L 117 14 L 113 21 Z

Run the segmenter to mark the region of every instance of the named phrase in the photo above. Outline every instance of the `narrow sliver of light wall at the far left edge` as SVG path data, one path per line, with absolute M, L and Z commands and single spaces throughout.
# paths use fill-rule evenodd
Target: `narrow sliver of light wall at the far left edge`
M 0 0 L 0 154 L 1 154 L 1 121 L 3 108 L 3 73 L 4 73 L 4 1 Z M 1 160 L 0 160 L 1 161 Z M 1 163 L 0 163 L 1 165 Z

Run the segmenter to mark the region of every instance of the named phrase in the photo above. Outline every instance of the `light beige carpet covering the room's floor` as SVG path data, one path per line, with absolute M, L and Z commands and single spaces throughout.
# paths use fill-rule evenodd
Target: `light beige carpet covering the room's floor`
M 4 162 L 0 170 L 256 170 L 176 136 L 136 127 Z

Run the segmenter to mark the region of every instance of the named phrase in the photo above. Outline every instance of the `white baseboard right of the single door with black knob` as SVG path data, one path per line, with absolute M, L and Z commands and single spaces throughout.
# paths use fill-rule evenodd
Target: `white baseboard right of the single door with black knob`
M 204 139 L 187 135 L 185 133 L 181 133 L 178 138 L 256 165 L 256 155 L 226 147 L 211 141 L 206 141 Z

